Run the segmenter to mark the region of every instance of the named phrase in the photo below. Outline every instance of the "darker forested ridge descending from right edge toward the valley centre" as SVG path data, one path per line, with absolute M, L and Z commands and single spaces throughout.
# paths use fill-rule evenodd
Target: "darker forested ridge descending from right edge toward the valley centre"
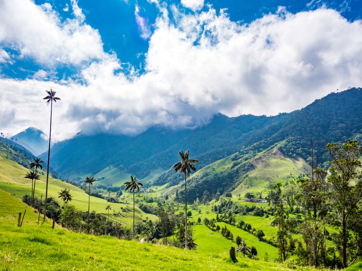
M 243 138 L 246 147 L 215 163 L 215 165 L 223 165 L 222 170 L 202 169 L 190 178 L 188 191 L 190 201 L 193 201 L 197 195 L 202 195 L 205 190 L 211 196 L 215 195 L 217 189 L 220 193 L 235 190 L 253 169 L 253 161 L 263 152 L 273 150 L 275 147 L 278 147 L 278 150 L 286 157 L 300 158 L 310 164 L 311 138 L 317 163 L 322 167 L 328 167 L 327 162 L 330 158 L 324 149 L 327 143 L 342 142 L 346 138 L 360 138 L 362 109 L 359 104 L 361 102 L 362 89 L 354 88 L 341 93 L 331 93 L 301 110 L 288 114 L 290 117 L 285 118 L 282 124 L 273 123 L 252 131 L 248 137 Z M 193 156 L 193 158 L 199 157 Z M 275 167 L 280 166 L 279 164 L 276 163 Z M 215 166 L 211 164 L 207 168 L 210 167 Z M 170 168 L 152 180 L 152 183 L 173 186 L 179 184 L 182 179 L 179 173 L 174 173 Z M 184 185 L 181 183 L 177 189 L 182 186 Z M 175 189 L 168 189 L 168 192 L 173 193 Z M 182 197 L 182 189 L 180 193 Z

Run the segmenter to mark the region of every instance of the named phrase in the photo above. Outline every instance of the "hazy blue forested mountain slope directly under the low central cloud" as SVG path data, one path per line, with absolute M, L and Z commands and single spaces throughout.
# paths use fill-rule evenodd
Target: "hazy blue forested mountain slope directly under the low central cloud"
M 199 167 L 215 162 L 242 147 L 243 138 L 249 133 L 271 124 L 280 125 L 287 118 L 286 114 L 234 118 L 218 114 L 208 125 L 197 129 L 153 127 L 135 137 L 79 134 L 56 143 L 50 161 L 63 177 L 95 175 L 112 166 L 141 179 L 150 175 L 153 169 L 169 168 L 178 160 L 181 149 L 191 149 L 191 154 L 200 160 Z

